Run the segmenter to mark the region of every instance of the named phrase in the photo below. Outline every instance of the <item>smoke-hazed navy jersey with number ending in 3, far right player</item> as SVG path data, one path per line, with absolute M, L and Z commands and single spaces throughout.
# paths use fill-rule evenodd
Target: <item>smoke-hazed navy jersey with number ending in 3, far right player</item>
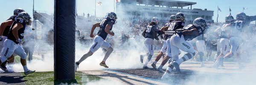
M 249 26 L 248 23 L 244 22 L 244 20 L 234 19 L 230 21 L 231 24 L 231 37 L 239 37 L 242 36 L 242 32 Z

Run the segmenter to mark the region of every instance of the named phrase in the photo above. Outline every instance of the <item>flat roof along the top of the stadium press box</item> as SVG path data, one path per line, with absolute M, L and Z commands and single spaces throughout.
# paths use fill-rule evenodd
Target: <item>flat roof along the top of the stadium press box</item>
M 137 0 L 137 4 L 158 5 L 169 7 L 184 7 L 196 4 L 195 2 L 177 1 L 177 0 Z

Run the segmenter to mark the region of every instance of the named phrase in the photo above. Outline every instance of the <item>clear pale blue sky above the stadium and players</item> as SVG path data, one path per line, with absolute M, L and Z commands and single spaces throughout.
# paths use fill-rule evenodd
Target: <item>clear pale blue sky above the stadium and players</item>
M 113 4 L 115 0 L 96 0 L 101 1 L 102 6 L 96 6 L 96 15 L 105 16 L 108 11 L 113 11 Z M 207 10 L 214 11 L 212 19 L 216 22 L 217 18 L 217 6 L 221 9 L 219 11 L 219 22 L 224 22 L 225 17 L 229 14 L 229 7 L 231 8 L 232 16 L 235 17 L 239 11 L 243 11 L 243 7 L 248 9 L 244 10 L 247 15 L 256 15 L 256 3 L 255 0 L 180 0 L 188 2 L 196 2 L 192 8 L 207 8 Z M 79 15 L 94 14 L 94 3 L 95 0 L 77 0 L 77 11 Z M 33 0 L 1 0 L 0 3 L 0 21 L 7 20 L 13 15 L 15 8 L 23 8 L 32 16 Z M 187 7 L 184 7 L 187 8 Z M 54 0 L 35 0 L 35 10 L 53 13 L 54 11 Z

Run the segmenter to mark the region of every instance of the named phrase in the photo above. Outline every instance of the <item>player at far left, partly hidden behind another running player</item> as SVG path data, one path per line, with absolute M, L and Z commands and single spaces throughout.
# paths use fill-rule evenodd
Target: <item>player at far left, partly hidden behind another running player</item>
M 16 8 L 13 11 L 13 16 L 11 16 L 8 20 L 6 20 L 5 22 L 3 22 L 0 26 L 0 49 L 3 48 L 3 42 L 6 40 L 10 27 L 12 26 L 12 23 L 17 20 L 17 16 L 20 12 L 23 12 L 24 10 L 22 8 Z M 2 63 L 2 65 L 0 66 L 0 68 L 3 71 L 8 71 L 6 68 L 6 63 L 10 64 L 14 62 L 14 54 L 11 55 L 11 57 L 9 57 L 5 62 Z

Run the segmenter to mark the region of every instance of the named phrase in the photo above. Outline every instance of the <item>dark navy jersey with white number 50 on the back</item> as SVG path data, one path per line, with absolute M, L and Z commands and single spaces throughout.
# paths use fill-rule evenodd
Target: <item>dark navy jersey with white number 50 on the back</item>
M 146 27 L 146 33 L 145 33 L 145 38 L 151 38 L 154 40 L 154 30 L 157 29 L 157 26 L 152 25 L 152 26 L 147 26 Z

